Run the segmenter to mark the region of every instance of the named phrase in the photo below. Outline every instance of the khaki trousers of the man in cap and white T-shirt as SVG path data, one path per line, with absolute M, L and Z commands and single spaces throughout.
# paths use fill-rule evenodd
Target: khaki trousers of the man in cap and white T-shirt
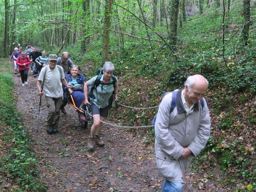
M 46 106 L 48 107 L 47 125 L 58 128 L 60 120 L 60 106 L 62 97 L 54 98 L 45 96 Z

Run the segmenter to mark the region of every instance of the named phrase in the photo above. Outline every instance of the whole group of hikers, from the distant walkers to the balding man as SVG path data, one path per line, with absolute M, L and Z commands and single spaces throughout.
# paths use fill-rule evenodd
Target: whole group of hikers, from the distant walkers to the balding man
M 34 76 L 39 71 L 38 95 L 44 95 L 48 107 L 46 131 L 49 134 L 58 133 L 60 111 L 67 113 L 64 107 L 72 94 L 76 106 L 84 104 L 82 108 L 85 105 L 91 107 L 93 125 L 88 135 L 88 149 L 93 151 L 94 143 L 104 146 L 100 137 L 103 121 L 108 116 L 110 101 L 116 101 L 118 97 L 118 79 L 113 75 L 113 63 L 105 62 L 101 72 L 87 81 L 86 76 L 79 73 L 80 67 L 73 64 L 66 51 L 62 52 L 61 57 L 55 54 L 46 57 L 43 51 L 36 58 L 33 55 L 40 51 L 35 47 L 30 49 L 30 53 L 19 48 L 20 56 L 14 56 L 16 52 L 13 58 L 16 59 L 23 86 L 28 84 L 27 72 L 31 60 L 34 62 Z M 162 192 L 182 192 L 185 170 L 208 141 L 210 115 L 203 98 L 207 89 L 208 81 L 205 77 L 192 75 L 187 78 L 182 89 L 166 93 L 162 98 L 154 121 L 156 168 L 165 178 Z M 79 115 L 84 119 L 83 113 Z

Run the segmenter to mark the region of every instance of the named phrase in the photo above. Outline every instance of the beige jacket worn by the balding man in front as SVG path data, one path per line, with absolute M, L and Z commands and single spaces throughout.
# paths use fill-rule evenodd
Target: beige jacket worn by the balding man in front
M 156 168 L 166 180 L 172 182 L 182 182 L 192 158 L 201 152 L 210 136 L 210 115 L 206 101 L 203 109 L 201 104 L 196 103 L 187 114 L 181 93 L 182 89 L 177 93 L 176 107 L 172 113 L 172 93 L 163 98 L 155 123 Z M 188 147 L 193 156 L 180 159 L 184 147 Z

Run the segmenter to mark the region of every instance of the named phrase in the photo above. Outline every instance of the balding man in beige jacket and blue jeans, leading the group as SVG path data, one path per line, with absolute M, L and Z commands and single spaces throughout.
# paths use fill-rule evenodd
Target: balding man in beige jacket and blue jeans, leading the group
M 155 152 L 156 168 L 165 178 L 162 192 L 182 192 L 185 170 L 208 141 L 210 115 L 202 99 L 207 89 L 208 81 L 202 75 L 189 76 L 184 88 L 165 95 L 159 105 Z

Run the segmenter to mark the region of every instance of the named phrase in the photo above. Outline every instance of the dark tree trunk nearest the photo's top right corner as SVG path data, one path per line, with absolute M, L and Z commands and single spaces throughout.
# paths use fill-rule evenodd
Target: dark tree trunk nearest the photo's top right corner
M 242 14 L 244 16 L 244 27 L 242 30 L 243 38 L 244 38 L 244 45 L 248 45 L 249 40 L 249 28 L 250 28 L 250 0 L 244 0 L 243 4 L 244 10 Z

